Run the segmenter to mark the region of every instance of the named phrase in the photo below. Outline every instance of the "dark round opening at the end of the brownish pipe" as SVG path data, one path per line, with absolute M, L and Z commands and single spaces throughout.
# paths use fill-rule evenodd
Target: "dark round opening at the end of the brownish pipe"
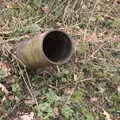
M 64 62 L 72 52 L 72 42 L 62 31 L 49 32 L 43 41 L 45 56 L 52 62 Z

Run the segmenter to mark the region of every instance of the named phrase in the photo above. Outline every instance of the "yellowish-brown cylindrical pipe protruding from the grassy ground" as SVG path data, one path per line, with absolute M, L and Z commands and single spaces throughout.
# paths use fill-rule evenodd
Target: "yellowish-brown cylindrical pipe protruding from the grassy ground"
M 30 69 L 63 64 L 70 59 L 72 51 L 72 40 L 60 30 L 38 34 L 16 47 L 17 57 Z

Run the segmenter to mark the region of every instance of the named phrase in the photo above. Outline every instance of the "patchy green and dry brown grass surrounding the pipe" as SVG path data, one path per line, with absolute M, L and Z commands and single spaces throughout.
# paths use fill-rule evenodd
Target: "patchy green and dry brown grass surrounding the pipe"
M 7 64 L 0 64 L 0 83 L 9 91 L 0 91 L 0 100 L 6 98 L 0 120 L 31 112 L 36 120 L 120 119 L 119 0 L 13 0 L 0 9 L 0 62 Z M 51 29 L 74 40 L 69 63 L 21 67 L 12 52 L 16 43 Z

